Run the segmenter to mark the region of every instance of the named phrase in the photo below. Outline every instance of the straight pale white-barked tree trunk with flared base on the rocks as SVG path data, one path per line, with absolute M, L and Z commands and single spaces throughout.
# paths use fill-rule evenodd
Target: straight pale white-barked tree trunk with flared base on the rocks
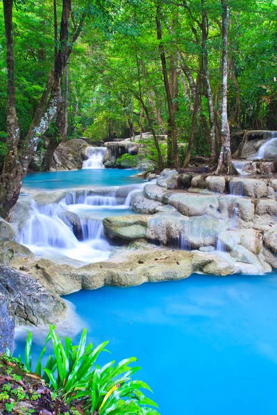
M 222 109 L 221 133 L 222 148 L 216 174 L 230 174 L 234 171 L 231 158 L 230 129 L 227 114 L 227 86 L 228 86 L 228 21 L 229 12 L 226 0 L 222 0 Z

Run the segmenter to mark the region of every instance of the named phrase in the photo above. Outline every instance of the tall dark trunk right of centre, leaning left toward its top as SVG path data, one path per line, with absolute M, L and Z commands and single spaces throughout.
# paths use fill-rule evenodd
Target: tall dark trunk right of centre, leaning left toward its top
M 157 24 L 157 39 L 160 41 L 159 51 L 160 51 L 161 66 L 162 66 L 162 71 L 163 71 L 163 84 L 166 89 L 166 100 L 168 102 L 168 113 L 169 113 L 171 130 L 172 130 L 172 148 L 173 148 L 174 164 L 175 164 L 175 169 L 179 169 L 177 127 L 175 123 L 175 114 L 174 114 L 174 109 L 173 109 L 172 97 L 170 95 L 170 86 L 168 82 L 168 70 L 166 67 L 166 54 L 163 50 L 163 44 L 161 43 L 161 39 L 162 39 L 161 6 L 159 5 L 159 3 L 157 4 L 157 7 L 156 7 L 156 24 Z

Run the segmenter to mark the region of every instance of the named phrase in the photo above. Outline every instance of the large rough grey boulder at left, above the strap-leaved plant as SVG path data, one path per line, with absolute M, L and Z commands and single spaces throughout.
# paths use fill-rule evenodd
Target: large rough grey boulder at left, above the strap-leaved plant
M 53 324 L 66 318 L 64 301 L 46 291 L 33 277 L 0 265 L 0 293 L 6 297 L 16 324 Z

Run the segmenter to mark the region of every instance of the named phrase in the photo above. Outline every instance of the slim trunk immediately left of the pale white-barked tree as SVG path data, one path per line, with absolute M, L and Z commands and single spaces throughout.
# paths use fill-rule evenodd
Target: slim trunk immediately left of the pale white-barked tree
M 208 98 L 208 116 L 210 120 L 210 145 L 211 145 L 211 159 L 210 164 L 213 166 L 216 163 L 216 145 L 215 145 L 215 110 L 213 106 L 213 93 L 210 83 L 210 71 L 208 68 L 208 48 L 207 48 L 207 27 L 206 27 L 206 8 L 204 0 L 202 0 L 202 53 L 203 53 L 203 66 L 204 66 L 204 78 L 206 82 L 206 92 Z

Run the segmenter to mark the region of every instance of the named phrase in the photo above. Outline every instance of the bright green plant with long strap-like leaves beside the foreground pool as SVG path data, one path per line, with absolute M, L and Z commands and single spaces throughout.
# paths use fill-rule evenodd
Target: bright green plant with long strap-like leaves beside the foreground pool
M 45 367 L 42 367 L 42 359 L 50 340 L 53 344 L 53 354 L 48 356 Z M 28 370 L 32 362 L 32 342 L 32 333 L 28 332 L 25 349 Z M 51 389 L 65 403 L 75 405 L 81 401 L 85 413 L 159 415 L 157 410 L 152 408 L 157 407 L 157 404 L 141 391 L 151 391 L 150 387 L 141 380 L 132 380 L 132 376 L 141 369 L 129 366 L 136 358 L 121 360 L 118 364 L 113 360 L 99 367 L 96 360 L 101 351 L 106 351 L 108 342 L 102 342 L 95 348 L 93 344 L 86 343 L 86 329 L 82 332 L 78 346 L 73 346 L 70 338 L 64 338 L 63 345 L 55 332 L 55 326 L 50 326 L 50 332 L 37 360 L 35 373 L 50 383 Z

